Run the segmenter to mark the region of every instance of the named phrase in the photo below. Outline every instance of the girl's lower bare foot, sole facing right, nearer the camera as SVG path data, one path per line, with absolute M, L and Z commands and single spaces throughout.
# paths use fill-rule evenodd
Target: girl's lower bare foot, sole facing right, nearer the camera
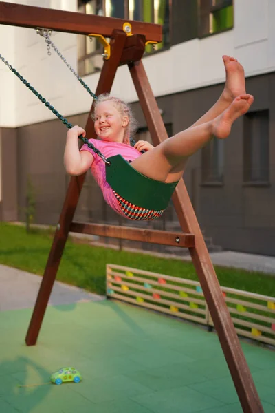
M 230 134 L 232 123 L 241 115 L 248 112 L 253 100 L 254 98 L 250 94 L 243 94 L 234 98 L 228 109 L 225 109 L 221 115 L 213 120 L 212 127 L 214 136 L 220 139 L 227 138 Z

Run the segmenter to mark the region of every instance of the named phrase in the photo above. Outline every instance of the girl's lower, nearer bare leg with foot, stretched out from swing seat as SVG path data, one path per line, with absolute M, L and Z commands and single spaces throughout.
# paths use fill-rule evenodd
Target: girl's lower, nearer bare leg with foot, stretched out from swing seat
M 179 180 L 189 156 L 206 145 L 213 134 L 217 138 L 226 138 L 230 134 L 234 120 L 248 112 L 253 100 L 250 94 L 235 98 L 230 107 L 214 120 L 186 129 L 164 140 L 151 151 L 133 160 L 131 165 L 148 178 L 162 182 Z

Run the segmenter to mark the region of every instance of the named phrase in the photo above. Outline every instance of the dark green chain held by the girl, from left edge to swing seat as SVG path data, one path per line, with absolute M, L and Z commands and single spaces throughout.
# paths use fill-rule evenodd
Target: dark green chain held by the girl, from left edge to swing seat
M 37 92 L 36 89 L 34 89 L 34 87 L 28 83 L 28 81 L 26 81 L 25 78 L 23 78 L 23 76 L 21 76 L 21 74 L 19 72 L 17 72 L 16 69 L 14 69 L 14 67 L 12 67 L 12 65 L 10 65 L 10 63 L 8 63 L 7 60 L 5 60 L 5 58 L 0 54 L 0 60 L 5 63 L 5 65 L 8 66 L 8 68 L 12 71 L 12 73 L 14 73 L 20 80 L 21 82 L 28 87 L 28 89 L 30 89 L 30 91 L 32 93 L 35 94 L 35 96 L 37 98 L 39 98 L 39 100 L 41 100 L 42 103 L 44 103 L 44 105 L 50 109 L 50 111 L 52 111 L 52 113 L 57 116 L 58 119 L 61 120 L 61 122 L 64 123 L 64 125 L 68 128 L 71 129 L 73 127 L 72 123 L 69 123 L 68 120 L 66 118 L 64 118 L 64 116 L 62 116 L 59 112 L 57 112 L 56 109 L 54 109 L 54 107 L 50 104 L 50 102 L 48 102 L 45 98 L 43 98 L 43 96 L 41 94 L 39 94 L 39 92 Z M 89 142 L 89 140 L 87 138 L 84 138 L 83 135 L 78 136 L 79 139 L 83 140 L 83 142 L 85 144 L 87 144 L 87 146 L 92 149 L 98 156 L 100 156 L 100 158 L 102 158 L 102 160 L 107 164 L 110 165 L 109 160 L 107 160 L 107 158 L 103 155 L 103 153 L 101 153 L 91 142 Z

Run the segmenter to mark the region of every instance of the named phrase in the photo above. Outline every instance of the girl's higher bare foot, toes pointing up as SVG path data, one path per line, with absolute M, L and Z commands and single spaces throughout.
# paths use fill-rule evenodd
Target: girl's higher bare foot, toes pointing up
M 245 72 L 243 66 L 234 57 L 223 56 L 223 63 L 226 73 L 223 98 L 232 102 L 237 96 L 246 94 L 245 92 Z

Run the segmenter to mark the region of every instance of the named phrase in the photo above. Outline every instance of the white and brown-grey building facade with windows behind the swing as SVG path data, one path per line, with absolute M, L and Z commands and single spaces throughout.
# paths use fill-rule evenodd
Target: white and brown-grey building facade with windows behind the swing
M 215 138 L 188 161 L 184 180 L 201 229 L 214 244 L 234 251 L 275 255 L 275 3 L 272 0 L 37 0 L 17 3 L 154 22 L 163 41 L 146 47 L 144 67 L 169 136 L 189 127 L 223 90 L 221 56 L 239 59 L 250 112 L 226 140 Z M 92 90 L 102 49 L 76 34 L 52 33 L 52 41 Z M 71 123 L 85 126 L 91 97 L 36 30 L 0 25 L 0 54 Z M 0 62 L 1 63 L 1 62 Z M 0 218 L 24 220 L 34 193 L 35 220 L 56 224 L 69 176 L 63 167 L 67 129 L 0 65 Z M 140 129 L 148 129 L 128 68 L 119 67 L 112 94 L 132 104 Z M 76 220 L 129 224 L 102 200 L 89 174 Z M 177 227 L 171 204 L 153 228 Z

